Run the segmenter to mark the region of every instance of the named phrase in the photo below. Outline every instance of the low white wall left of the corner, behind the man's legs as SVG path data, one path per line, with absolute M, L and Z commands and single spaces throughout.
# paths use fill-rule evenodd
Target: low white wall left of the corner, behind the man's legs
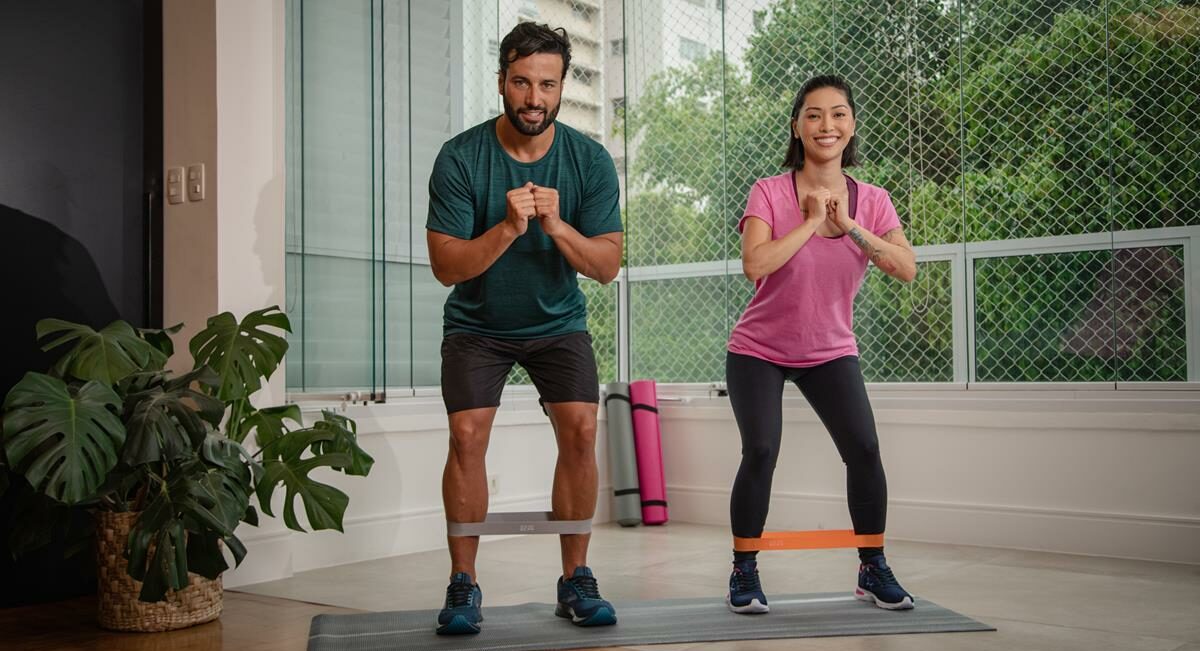
M 408 399 L 396 405 L 350 406 L 344 412 L 359 425 L 360 443 L 376 462 L 371 474 L 313 477 L 346 491 L 350 506 L 344 533 L 294 533 L 277 522 L 242 526 L 238 536 L 250 554 L 224 577 L 227 587 L 282 579 L 294 572 L 445 548 L 442 468 L 449 430 L 438 399 Z M 305 418 L 317 417 L 306 411 Z M 602 432 L 596 443 L 601 494 L 611 491 Z M 536 399 L 505 395 L 487 452 L 487 473 L 498 479 L 490 498 L 494 510 L 550 510 L 554 474 L 554 435 Z M 298 513 L 302 518 L 300 502 Z M 594 522 L 610 520 L 600 500 Z M 276 514 L 280 514 L 276 510 Z M 445 569 L 450 560 L 446 556 Z

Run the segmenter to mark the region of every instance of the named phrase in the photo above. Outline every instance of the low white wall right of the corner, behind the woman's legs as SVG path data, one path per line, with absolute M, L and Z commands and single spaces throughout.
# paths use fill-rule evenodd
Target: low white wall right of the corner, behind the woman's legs
M 887 534 L 1200 563 L 1196 392 L 888 392 L 871 400 Z M 664 406 L 674 520 L 728 524 L 739 440 L 726 399 Z M 845 473 L 790 392 L 768 530 L 850 528 Z

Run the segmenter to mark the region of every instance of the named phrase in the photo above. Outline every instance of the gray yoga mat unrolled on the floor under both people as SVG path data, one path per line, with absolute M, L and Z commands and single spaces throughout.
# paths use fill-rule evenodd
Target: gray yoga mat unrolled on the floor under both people
M 913 610 L 882 610 L 845 592 L 770 597 L 767 615 L 736 615 L 720 596 L 703 599 L 618 602 L 617 625 L 577 627 L 556 617 L 554 607 L 527 603 L 488 608 L 482 632 L 440 637 L 437 610 L 318 615 L 308 632 L 308 651 L 539 651 L 833 635 L 995 631 L 925 599 Z

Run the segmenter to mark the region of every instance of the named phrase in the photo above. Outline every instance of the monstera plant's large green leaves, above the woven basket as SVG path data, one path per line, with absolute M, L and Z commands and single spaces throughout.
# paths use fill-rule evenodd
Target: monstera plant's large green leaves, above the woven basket
M 281 485 L 289 528 L 305 531 L 299 497 L 312 528 L 341 531 L 347 495 L 311 474 L 366 476 L 373 462 L 348 418 L 326 411 L 306 428 L 295 405 L 251 402 L 288 350 L 290 323 L 277 307 L 209 318 L 188 345 L 192 370 L 175 375 L 166 365 L 179 328 L 41 321 L 38 341 L 59 357 L 4 401 L 0 456 L 34 491 L 139 513 L 126 557 L 144 602 L 186 586 L 188 572 L 215 579 L 229 567 L 222 547 L 240 563 L 246 548 L 234 530 L 258 524 L 254 498 L 274 516 Z

